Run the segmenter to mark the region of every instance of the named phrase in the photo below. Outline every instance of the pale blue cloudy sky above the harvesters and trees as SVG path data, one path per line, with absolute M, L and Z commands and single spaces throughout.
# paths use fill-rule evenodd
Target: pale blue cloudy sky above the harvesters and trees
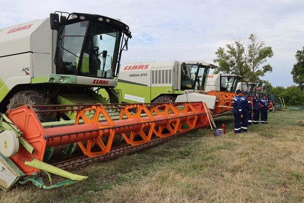
M 304 1 L 299 0 L 0 0 L 0 29 L 49 17 L 54 11 L 119 18 L 132 39 L 121 63 L 202 60 L 213 63 L 218 47 L 251 33 L 273 49 L 273 86 L 294 85 L 295 52 L 304 46 Z

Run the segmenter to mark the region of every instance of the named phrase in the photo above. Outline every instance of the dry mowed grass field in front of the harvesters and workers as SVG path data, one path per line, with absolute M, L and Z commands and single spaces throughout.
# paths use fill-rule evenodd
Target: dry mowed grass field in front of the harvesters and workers
M 268 124 L 236 136 L 210 129 L 75 173 L 85 181 L 54 190 L 31 184 L 0 192 L 1 202 L 303 201 L 304 112 L 268 114 Z

